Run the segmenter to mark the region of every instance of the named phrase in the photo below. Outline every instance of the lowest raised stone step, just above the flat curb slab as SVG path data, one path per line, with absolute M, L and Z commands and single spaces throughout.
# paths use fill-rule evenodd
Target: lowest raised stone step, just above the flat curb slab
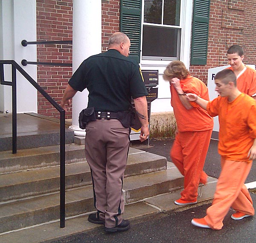
M 137 185 L 137 186 L 136 186 Z M 161 193 L 180 189 L 183 177 L 177 168 L 126 177 L 125 202 L 135 202 Z M 66 191 L 66 217 L 95 210 L 92 186 Z M 0 206 L 0 233 L 32 226 L 59 218 L 59 193 L 27 198 Z

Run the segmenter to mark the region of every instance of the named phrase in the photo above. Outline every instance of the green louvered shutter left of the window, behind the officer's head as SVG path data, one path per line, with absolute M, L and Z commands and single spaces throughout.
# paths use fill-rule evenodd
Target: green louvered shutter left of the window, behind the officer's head
M 141 5 L 142 0 L 120 1 L 120 31 L 130 38 L 129 57 L 138 63 L 140 63 Z

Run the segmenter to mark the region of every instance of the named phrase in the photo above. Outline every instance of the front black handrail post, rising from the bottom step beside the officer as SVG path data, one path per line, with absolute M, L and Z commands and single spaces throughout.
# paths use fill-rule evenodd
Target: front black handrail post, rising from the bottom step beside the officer
M 65 228 L 65 111 L 60 111 L 60 227 Z

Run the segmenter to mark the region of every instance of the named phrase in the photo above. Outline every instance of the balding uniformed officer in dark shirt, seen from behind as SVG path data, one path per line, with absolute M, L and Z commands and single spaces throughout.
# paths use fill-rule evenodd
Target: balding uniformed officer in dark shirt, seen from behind
M 131 42 L 122 32 L 109 39 L 108 51 L 87 58 L 71 77 L 61 100 L 61 107 L 77 91 L 89 91 L 85 156 L 91 169 L 94 204 L 97 212 L 88 221 L 104 224 L 105 231 L 130 228 L 123 220 L 123 177 L 129 149 L 131 98 L 142 124 L 140 141 L 149 135 L 148 110 L 140 66 L 128 59 Z M 129 121 L 128 121 L 129 120 Z

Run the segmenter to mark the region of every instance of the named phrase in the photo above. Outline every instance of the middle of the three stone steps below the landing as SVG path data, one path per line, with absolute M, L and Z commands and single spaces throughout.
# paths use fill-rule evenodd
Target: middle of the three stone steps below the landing
M 130 149 L 125 176 L 156 172 L 166 169 L 166 166 L 165 157 Z M 59 175 L 59 166 L 0 174 L 0 201 L 59 191 Z M 66 165 L 66 189 L 91 183 L 90 167 L 86 161 Z

